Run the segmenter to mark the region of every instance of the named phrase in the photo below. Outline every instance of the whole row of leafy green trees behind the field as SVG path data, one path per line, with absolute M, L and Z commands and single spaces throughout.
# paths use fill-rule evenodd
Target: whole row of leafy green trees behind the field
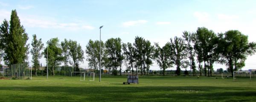
M 79 63 L 84 62 L 84 51 L 77 41 L 67 40 L 59 42 L 58 38 L 47 41 L 44 47 L 41 39 L 33 35 L 30 45 L 27 44 L 28 34 L 20 25 L 17 11 L 12 10 L 11 20 L 4 19 L 0 26 L 0 52 L 6 65 L 24 63 L 28 61 L 29 52 L 32 54 L 33 68 L 38 70 L 39 60 L 44 55 L 48 58 L 48 65 L 52 75 L 55 66 L 64 63 L 74 66 L 74 71 L 79 71 Z M 99 57 L 100 46 L 102 59 Z M 149 40 L 136 36 L 133 43 L 123 43 L 120 38 L 110 38 L 103 42 L 89 40 L 85 53 L 88 66 L 94 70 L 101 67 L 108 69 L 112 74 L 122 74 L 122 68 L 132 74 L 146 75 L 155 61 L 165 75 L 166 69 L 176 66 L 175 73 L 182 74 L 181 69 L 191 69 L 193 75 L 196 71 L 200 75 L 212 76 L 214 63 L 227 66 L 230 72 L 237 71 L 245 66 L 248 55 L 256 52 L 256 43 L 249 42 L 248 36 L 239 30 L 228 30 L 225 33 L 215 33 L 201 27 L 195 32 L 184 31 L 182 37 L 171 38 L 163 47 L 158 43 L 151 44 Z M 47 56 L 48 55 L 48 56 Z M 187 71 L 185 71 L 185 74 Z

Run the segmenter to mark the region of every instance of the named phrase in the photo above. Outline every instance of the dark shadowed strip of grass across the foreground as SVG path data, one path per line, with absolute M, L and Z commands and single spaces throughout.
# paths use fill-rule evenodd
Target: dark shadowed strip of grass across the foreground
M 5 102 L 253 102 L 256 98 L 253 88 L 212 86 L 29 86 L 0 87 L 0 91 L 13 91 L 12 95 L 1 95 L 0 99 L 5 99 Z

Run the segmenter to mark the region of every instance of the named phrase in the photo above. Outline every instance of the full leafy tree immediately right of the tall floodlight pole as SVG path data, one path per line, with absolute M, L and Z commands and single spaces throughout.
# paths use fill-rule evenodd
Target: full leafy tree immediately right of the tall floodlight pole
M 121 67 L 122 67 L 122 60 L 124 59 L 122 55 L 122 44 L 121 44 L 121 39 L 120 38 L 111 38 L 108 39 L 105 42 L 105 51 L 107 52 L 107 58 L 108 58 L 108 63 L 110 64 L 113 70 L 113 74 L 116 75 L 117 73 L 117 67 L 120 67 L 120 75 L 121 75 Z

